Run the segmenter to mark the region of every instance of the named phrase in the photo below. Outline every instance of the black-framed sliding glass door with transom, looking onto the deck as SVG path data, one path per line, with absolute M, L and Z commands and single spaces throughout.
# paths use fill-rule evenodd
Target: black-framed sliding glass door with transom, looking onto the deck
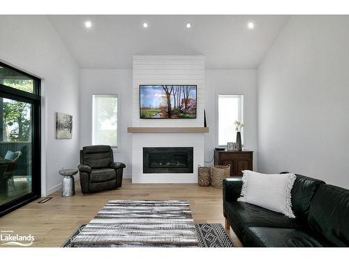
M 0 216 L 40 196 L 40 80 L 0 63 Z

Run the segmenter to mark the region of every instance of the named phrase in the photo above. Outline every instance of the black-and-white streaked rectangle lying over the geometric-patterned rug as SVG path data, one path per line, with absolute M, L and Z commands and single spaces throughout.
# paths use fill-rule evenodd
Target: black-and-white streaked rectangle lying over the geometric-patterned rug
M 197 247 L 188 201 L 108 201 L 71 247 Z

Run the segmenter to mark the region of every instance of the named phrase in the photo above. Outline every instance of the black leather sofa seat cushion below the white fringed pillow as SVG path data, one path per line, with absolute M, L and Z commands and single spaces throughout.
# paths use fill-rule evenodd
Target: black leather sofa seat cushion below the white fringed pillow
M 248 226 L 267 226 L 279 228 L 299 228 L 297 219 L 286 217 L 284 214 L 260 208 L 249 203 L 232 201 L 224 203 L 224 213 L 230 221 L 232 229 L 238 238 L 244 235 Z

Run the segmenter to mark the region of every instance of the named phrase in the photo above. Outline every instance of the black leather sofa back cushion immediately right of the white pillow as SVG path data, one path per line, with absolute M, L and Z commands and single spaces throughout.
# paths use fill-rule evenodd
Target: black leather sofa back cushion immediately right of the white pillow
M 297 219 L 301 219 L 306 224 L 315 191 L 318 190 L 320 184 L 325 184 L 325 182 L 304 175 L 295 175 L 296 180 L 291 190 L 292 211 Z

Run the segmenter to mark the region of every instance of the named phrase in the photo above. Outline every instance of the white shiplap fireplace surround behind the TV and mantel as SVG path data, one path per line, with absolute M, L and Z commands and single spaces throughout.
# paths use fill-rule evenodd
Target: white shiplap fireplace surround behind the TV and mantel
M 140 85 L 197 85 L 196 119 L 140 119 Z M 205 57 L 135 55 L 132 127 L 202 127 L 205 108 Z M 196 183 L 204 164 L 204 133 L 132 133 L 133 183 Z M 193 173 L 143 173 L 143 147 L 193 147 Z

